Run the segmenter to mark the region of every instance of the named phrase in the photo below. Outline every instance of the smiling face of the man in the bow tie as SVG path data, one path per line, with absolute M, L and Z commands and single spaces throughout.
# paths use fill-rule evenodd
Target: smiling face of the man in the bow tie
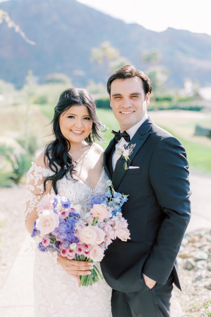
M 110 106 L 122 131 L 130 129 L 146 114 L 150 93 L 145 92 L 139 77 L 115 79 L 111 83 Z

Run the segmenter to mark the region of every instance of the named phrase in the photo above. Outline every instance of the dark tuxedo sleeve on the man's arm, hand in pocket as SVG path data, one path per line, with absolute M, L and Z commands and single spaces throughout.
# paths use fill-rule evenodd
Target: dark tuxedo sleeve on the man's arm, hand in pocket
M 142 272 L 165 284 L 190 220 L 188 162 L 176 138 L 166 137 L 158 142 L 152 153 L 149 178 L 164 220 Z

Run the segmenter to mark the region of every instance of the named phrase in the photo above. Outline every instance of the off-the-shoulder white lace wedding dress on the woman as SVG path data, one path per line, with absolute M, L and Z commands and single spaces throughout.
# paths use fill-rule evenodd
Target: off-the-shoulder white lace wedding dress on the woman
M 31 166 L 27 174 L 25 216 L 33 214 L 36 204 L 43 197 L 40 195 L 43 192 L 43 178 L 52 174 L 50 169 L 34 163 Z M 103 169 L 98 183 L 91 189 L 80 179 L 73 181 L 64 177 L 57 182 L 58 194 L 68 197 L 73 204 L 81 204 L 85 213 L 90 209 L 91 197 L 105 192 L 107 179 Z M 99 262 L 95 264 L 100 270 Z M 47 253 L 35 251 L 35 317 L 111 317 L 110 302 L 111 288 L 104 280 L 79 288 L 76 279 L 68 275 Z

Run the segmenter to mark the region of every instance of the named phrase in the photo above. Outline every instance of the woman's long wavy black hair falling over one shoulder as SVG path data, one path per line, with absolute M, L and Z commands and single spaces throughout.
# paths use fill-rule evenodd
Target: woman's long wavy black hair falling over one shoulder
M 85 89 L 69 88 L 63 91 L 59 96 L 59 101 L 54 108 L 53 120 L 50 124 L 53 124 L 52 131 L 55 139 L 50 141 L 44 150 L 44 161 L 47 161 L 47 165 L 54 172 L 54 175 L 48 176 L 44 180 L 44 192 L 46 191 L 46 182 L 51 180 L 53 190 L 58 194 L 56 183 L 64 176 L 68 178 L 74 171 L 76 162 L 69 155 L 70 142 L 61 133 L 59 127 L 59 117 L 61 113 L 67 111 L 72 106 L 84 105 L 87 107 L 91 120 L 93 121 L 91 133 L 85 139 L 85 142 L 89 145 L 93 143 L 95 139 L 103 141 L 101 137 L 102 128 L 105 126 L 97 119 L 96 105 L 90 94 Z

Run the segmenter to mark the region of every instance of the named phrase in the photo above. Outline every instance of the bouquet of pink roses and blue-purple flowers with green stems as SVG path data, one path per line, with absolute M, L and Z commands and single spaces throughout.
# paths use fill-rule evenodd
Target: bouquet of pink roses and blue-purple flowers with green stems
M 106 185 L 106 193 L 92 197 L 91 209 L 83 217 L 80 204 L 72 205 L 67 197 L 45 195 L 38 204 L 38 219 L 31 234 L 40 240 L 38 249 L 57 257 L 100 262 L 112 240 L 116 237 L 122 241 L 130 239 L 127 220 L 121 213 L 127 195 L 115 192 L 110 180 Z M 90 275 L 79 277 L 80 286 L 103 279 L 95 265 Z

